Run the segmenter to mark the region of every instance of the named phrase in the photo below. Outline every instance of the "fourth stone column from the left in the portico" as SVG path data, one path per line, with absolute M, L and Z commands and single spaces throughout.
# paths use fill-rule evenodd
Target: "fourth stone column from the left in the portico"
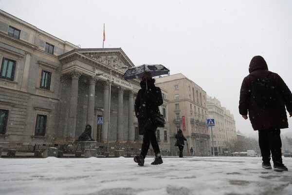
M 123 142 L 123 113 L 124 113 L 124 89 L 119 88 L 118 93 L 118 118 L 117 118 L 117 142 Z

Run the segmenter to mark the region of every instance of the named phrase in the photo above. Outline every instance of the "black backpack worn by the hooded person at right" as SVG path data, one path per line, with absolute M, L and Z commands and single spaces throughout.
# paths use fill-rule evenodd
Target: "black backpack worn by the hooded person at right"
M 269 73 L 265 78 L 256 78 L 252 81 L 252 97 L 255 99 L 259 107 L 273 106 L 278 101 L 277 86 L 274 78 L 268 78 L 272 73 Z

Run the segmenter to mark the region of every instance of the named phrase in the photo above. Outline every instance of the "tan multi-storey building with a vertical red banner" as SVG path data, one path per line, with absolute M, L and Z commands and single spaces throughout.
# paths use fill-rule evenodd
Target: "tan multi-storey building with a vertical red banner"
M 193 148 L 195 156 L 210 155 L 210 130 L 207 127 L 207 95 L 200 86 L 183 74 L 156 78 L 157 86 L 168 92 L 168 121 L 171 134 L 170 148 L 173 151 L 178 129 L 183 130 L 188 147 L 184 154 L 189 155 L 187 148 Z

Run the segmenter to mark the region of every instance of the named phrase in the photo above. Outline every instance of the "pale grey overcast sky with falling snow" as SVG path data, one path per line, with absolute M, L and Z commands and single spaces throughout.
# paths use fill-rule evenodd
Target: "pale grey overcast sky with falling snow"
M 105 23 L 105 48 L 182 73 L 246 135 L 253 130 L 238 99 L 250 60 L 262 56 L 292 89 L 291 0 L 0 0 L 0 9 L 81 48 L 102 48 Z

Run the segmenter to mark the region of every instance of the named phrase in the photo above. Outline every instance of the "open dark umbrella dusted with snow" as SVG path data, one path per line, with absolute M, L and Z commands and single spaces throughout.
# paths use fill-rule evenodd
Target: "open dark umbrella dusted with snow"
M 152 77 L 155 77 L 159 75 L 167 75 L 169 70 L 161 64 L 143 64 L 140 66 L 129 68 L 123 75 L 123 78 L 125 78 L 126 80 L 133 78 L 142 78 L 144 73 L 146 72 L 151 73 Z

